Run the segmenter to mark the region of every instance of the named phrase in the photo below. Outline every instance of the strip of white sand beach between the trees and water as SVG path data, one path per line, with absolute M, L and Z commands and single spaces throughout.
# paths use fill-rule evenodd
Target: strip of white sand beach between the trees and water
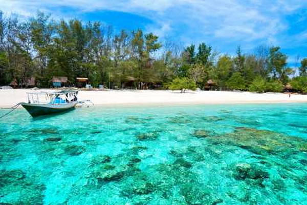
M 47 90 L 43 90 L 47 91 Z M 29 89 L 0 90 L 0 107 L 8 108 L 27 101 Z M 237 103 L 307 103 L 307 95 L 283 93 L 250 93 L 227 91 L 199 91 L 180 93 L 168 90 L 111 90 L 79 91 L 79 100 L 90 99 L 95 105 L 135 104 L 237 104 Z

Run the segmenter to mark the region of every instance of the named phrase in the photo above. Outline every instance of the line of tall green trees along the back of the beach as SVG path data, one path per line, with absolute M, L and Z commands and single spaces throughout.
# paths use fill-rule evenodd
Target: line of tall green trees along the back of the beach
M 20 20 L 0 12 L 0 85 L 18 85 L 35 76 L 37 86 L 50 87 L 53 76 L 87 77 L 94 87 L 137 89 L 216 89 L 281 92 L 284 86 L 307 93 L 307 58 L 295 69 L 287 55 L 266 44 L 253 53 L 220 54 L 211 46 L 184 47 L 153 33 L 122 30 L 78 19 L 54 20 L 45 13 Z M 292 77 L 291 76 L 295 76 Z

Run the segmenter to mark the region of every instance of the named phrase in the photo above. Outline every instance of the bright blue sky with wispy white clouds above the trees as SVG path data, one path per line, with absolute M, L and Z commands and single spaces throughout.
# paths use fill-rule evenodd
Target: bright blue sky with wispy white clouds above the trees
M 55 19 L 98 20 L 115 31 L 141 28 L 185 46 L 204 42 L 222 54 L 274 45 L 291 66 L 297 56 L 307 57 L 306 0 L 0 0 L 0 10 L 21 18 L 39 10 Z

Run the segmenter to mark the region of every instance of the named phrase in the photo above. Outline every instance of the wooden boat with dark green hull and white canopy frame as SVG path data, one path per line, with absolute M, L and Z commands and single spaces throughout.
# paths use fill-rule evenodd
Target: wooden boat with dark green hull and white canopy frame
M 78 104 L 77 91 L 27 93 L 28 103 L 20 103 L 32 117 L 66 112 Z

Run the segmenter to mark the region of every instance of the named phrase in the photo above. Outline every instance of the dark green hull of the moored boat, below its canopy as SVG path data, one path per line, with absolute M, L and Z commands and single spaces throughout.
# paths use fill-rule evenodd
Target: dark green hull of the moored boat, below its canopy
M 67 103 L 67 104 L 29 104 L 29 103 L 21 103 L 32 117 L 38 117 L 41 115 L 50 115 L 60 112 L 66 112 L 75 109 L 77 103 Z

